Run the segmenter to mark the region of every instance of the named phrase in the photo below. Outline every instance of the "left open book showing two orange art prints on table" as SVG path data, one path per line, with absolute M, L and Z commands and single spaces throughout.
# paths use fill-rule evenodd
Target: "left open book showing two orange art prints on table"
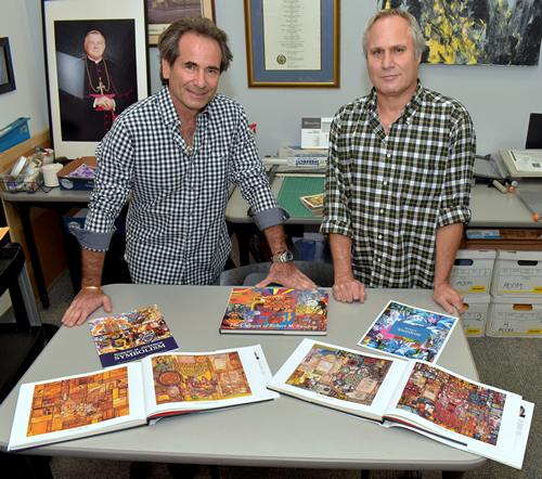
M 155 354 L 93 373 L 24 384 L 8 451 L 95 436 L 162 417 L 275 399 L 259 345 Z

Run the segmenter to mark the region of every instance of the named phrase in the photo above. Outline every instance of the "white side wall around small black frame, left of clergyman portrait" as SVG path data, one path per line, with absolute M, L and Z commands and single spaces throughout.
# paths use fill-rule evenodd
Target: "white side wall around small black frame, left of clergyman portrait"
M 28 8 L 28 10 L 27 10 Z M 0 95 L 0 128 L 30 117 L 30 135 L 49 128 L 39 0 L 1 0 L 0 37 L 10 39 L 16 90 Z

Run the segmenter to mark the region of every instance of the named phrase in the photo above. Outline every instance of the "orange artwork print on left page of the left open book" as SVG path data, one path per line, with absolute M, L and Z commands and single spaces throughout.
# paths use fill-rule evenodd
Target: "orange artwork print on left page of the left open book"
M 27 437 L 127 416 L 128 368 L 38 385 L 34 389 Z

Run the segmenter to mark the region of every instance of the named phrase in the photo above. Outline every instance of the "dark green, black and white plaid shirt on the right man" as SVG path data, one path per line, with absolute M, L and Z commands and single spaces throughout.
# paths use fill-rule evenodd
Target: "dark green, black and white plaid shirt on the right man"
M 338 111 L 321 232 L 352 238 L 356 279 L 433 288 L 436 229 L 470 219 L 475 152 L 465 107 L 420 83 L 387 134 L 374 88 Z

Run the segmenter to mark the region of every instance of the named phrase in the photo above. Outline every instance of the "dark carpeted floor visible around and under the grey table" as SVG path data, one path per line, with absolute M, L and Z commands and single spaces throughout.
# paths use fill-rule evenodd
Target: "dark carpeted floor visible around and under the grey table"
M 51 307 L 39 307 L 43 323 L 60 324 L 64 311 L 73 298 L 72 283 L 66 273 L 50 290 Z M 539 407 L 542 405 L 542 339 L 535 338 L 470 338 L 468 340 L 473 357 L 478 367 L 480 380 L 485 384 L 521 393 L 528 401 L 534 402 L 534 418 L 524 467 L 516 470 L 493 461 L 475 471 L 468 471 L 466 479 L 535 479 L 542 478 L 542 418 Z M 130 464 L 126 462 L 54 457 L 51 470 L 55 479 L 100 478 L 118 479 L 129 477 Z M 219 467 L 221 479 L 353 479 L 360 478 L 359 470 L 322 469 L 281 469 L 250 467 Z M 371 471 L 371 479 L 400 478 L 400 471 Z M 1 476 L 1 472 L 0 472 Z M 440 478 L 438 471 L 422 471 L 422 479 Z M 152 478 L 169 479 L 165 464 L 152 465 Z M 210 478 L 207 466 L 202 466 L 196 479 Z

